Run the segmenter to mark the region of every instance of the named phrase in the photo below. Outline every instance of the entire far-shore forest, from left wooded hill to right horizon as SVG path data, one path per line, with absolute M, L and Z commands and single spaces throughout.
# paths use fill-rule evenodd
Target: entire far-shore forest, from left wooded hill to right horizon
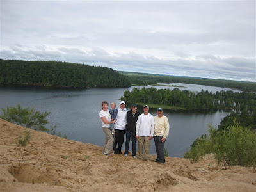
M 61 61 L 0 59 L 0 84 L 93 88 L 127 87 L 131 85 L 157 83 L 202 84 L 206 86 L 232 88 L 244 92 L 256 92 L 255 82 L 166 76 L 123 71 L 117 72 L 108 67 L 97 67 Z

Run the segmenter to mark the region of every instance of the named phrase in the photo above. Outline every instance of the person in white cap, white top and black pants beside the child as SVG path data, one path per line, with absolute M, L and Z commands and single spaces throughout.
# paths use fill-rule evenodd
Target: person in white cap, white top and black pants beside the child
M 121 148 L 124 143 L 125 125 L 126 125 L 126 115 L 127 110 L 125 108 L 125 102 L 122 100 L 120 102 L 118 113 L 116 116 L 115 128 L 115 142 L 113 145 L 113 152 L 115 154 L 122 154 Z

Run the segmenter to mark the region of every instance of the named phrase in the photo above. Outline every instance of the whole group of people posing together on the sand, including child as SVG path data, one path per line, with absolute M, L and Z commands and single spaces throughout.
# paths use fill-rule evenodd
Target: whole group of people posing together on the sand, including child
M 157 108 L 157 115 L 149 113 L 149 106 L 143 106 L 143 113 L 133 103 L 131 110 L 127 111 L 125 102 L 120 102 L 119 108 L 111 104 L 108 109 L 108 102 L 103 101 L 102 110 L 99 113 L 102 121 L 102 129 L 106 135 L 103 154 L 109 156 L 113 153 L 122 154 L 121 148 L 126 136 L 124 156 L 129 154 L 129 143 L 132 141 L 132 157 L 150 161 L 150 142 L 154 138 L 156 146 L 156 162 L 165 163 L 164 143 L 169 134 L 168 118 L 163 115 L 163 108 Z M 138 156 L 136 156 L 136 140 L 138 140 Z M 144 154 L 143 154 L 144 149 Z

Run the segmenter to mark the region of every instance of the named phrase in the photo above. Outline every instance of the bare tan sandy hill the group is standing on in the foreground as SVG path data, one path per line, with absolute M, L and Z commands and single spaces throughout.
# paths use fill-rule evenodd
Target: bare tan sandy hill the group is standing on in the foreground
M 15 138 L 31 131 L 26 147 Z M 152 145 L 154 143 L 152 142 Z M 102 147 L 0 119 L 0 191 L 256 191 L 256 168 L 166 158 L 166 164 L 102 155 Z

